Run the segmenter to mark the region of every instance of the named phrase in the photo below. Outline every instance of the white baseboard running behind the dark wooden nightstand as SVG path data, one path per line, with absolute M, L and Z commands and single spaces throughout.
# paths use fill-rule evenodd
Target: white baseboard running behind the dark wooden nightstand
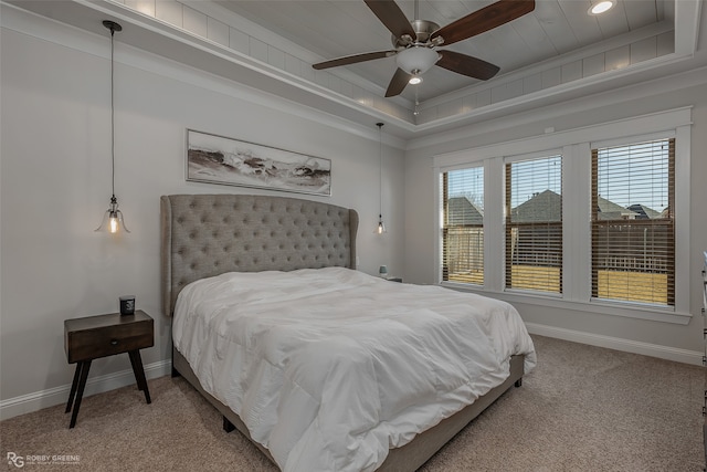
M 170 359 L 147 364 L 144 367 L 145 377 L 149 380 L 169 375 L 171 373 L 171 365 L 172 363 Z M 104 391 L 126 387 L 131 384 L 135 384 L 133 369 L 88 378 L 86 381 L 86 389 L 84 390 L 84 397 L 103 394 Z M 66 403 L 70 390 L 71 384 L 67 384 L 61 387 L 49 388 L 46 390 L 2 400 L 0 401 L 0 420 L 38 411 L 42 408 Z

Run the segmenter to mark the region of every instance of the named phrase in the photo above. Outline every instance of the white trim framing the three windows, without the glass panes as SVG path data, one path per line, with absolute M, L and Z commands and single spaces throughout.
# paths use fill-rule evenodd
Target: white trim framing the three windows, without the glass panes
M 692 107 L 641 115 L 548 135 L 499 143 L 433 157 L 435 230 L 440 233 L 440 172 L 484 166 L 484 285 L 442 282 L 454 290 L 477 292 L 511 303 L 528 303 L 608 315 L 686 325 L 689 313 L 689 162 Z M 675 306 L 597 300 L 591 296 L 591 149 L 646 139 L 675 137 Z M 559 149 L 559 150 L 558 150 Z M 545 294 L 505 287 L 505 164 L 534 155 L 562 156 L 562 293 Z M 570 190 L 571 191 L 568 191 Z M 435 241 L 441 268 L 441 238 Z

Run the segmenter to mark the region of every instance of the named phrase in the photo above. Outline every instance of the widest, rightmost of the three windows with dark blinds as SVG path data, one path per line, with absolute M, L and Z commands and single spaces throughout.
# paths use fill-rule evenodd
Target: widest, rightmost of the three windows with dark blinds
M 592 149 L 592 297 L 675 305 L 675 139 Z

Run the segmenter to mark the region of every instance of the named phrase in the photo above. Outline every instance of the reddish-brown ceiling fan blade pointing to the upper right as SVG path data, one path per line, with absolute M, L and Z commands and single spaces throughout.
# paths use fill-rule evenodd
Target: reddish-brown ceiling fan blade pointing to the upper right
M 440 28 L 432 33 L 430 39 L 434 40 L 437 36 L 442 36 L 443 44 L 453 44 L 500 27 L 516 18 L 530 13 L 532 10 L 535 10 L 535 0 L 498 0 L 496 3 L 484 7 L 446 27 Z

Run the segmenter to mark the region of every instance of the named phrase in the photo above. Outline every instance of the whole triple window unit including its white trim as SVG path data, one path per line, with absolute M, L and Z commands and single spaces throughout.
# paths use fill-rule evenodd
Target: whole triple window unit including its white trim
M 690 124 L 684 107 L 435 156 L 437 281 L 689 323 Z

